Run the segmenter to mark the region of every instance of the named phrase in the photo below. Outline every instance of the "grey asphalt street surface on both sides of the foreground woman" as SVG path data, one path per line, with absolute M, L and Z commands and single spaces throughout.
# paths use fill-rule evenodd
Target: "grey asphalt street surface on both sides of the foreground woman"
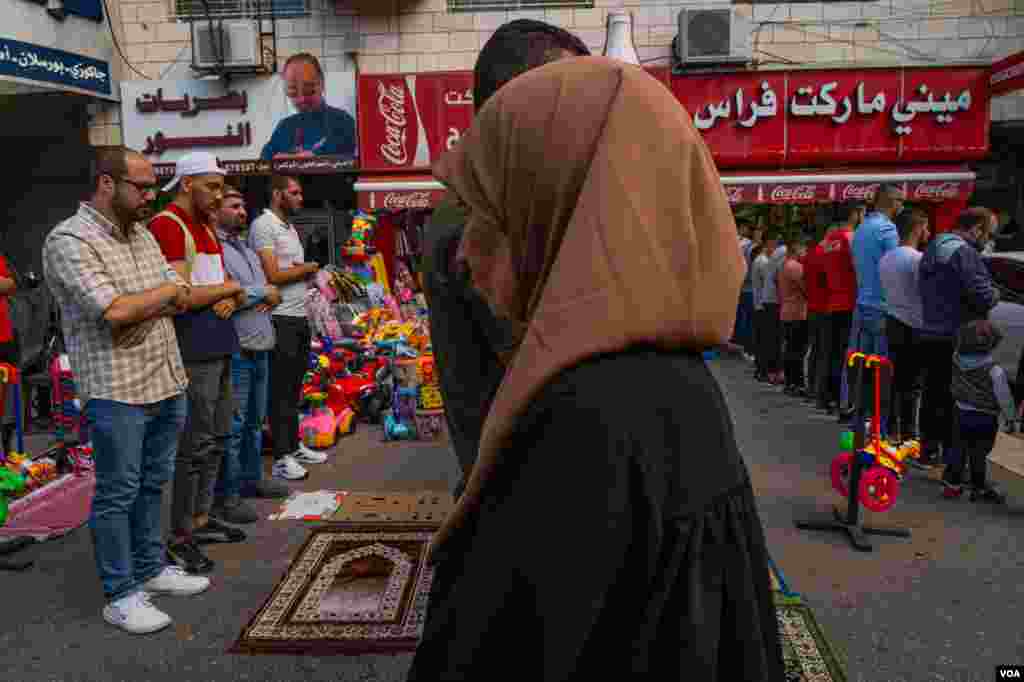
M 797 530 L 794 520 L 837 501 L 828 464 L 835 421 L 751 379 L 741 360 L 713 363 L 758 492 L 773 557 L 849 662 L 850 680 L 988 681 L 996 664 L 1024 663 L 1024 513 L 949 502 L 914 473 L 878 524 L 912 528 L 854 552 L 841 536 Z M 690 457 L 713 457 L 694 453 Z M 303 489 L 452 489 L 444 445 L 381 443 L 364 430 Z M 699 471 L 696 467 L 695 471 Z M 269 514 L 272 503 L 261 503 Z M 410 656 L 228 655 L 226 648 L 276 585 L 307 528 L 260 521 L 250 542 L 211 548 L 211 590 L 157 602 L 171 629 L 133 637 L 105 625 L 88 532 L 28 551 L 36 566 L 0 573 L 0 681 L 228 682 L 401 680 Z M 699 682 L 699 681 L 695 681 Z

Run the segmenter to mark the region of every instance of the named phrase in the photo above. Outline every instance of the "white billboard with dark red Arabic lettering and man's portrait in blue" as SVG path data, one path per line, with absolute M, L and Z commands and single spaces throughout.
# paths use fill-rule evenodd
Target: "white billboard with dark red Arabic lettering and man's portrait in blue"
M 355 131 L 348 117 L 355 111 L 354 76 L 328 73 L 324 92 L 323 106 L 299 113 L 280 76 L 233 80 L 229 87 L 201 80 L 124 82 L 125 144 L 145 155 L 159 172 L 173 173 L 182 156 L 200 148 L 216 154 L 232 173 L 353 168 Z

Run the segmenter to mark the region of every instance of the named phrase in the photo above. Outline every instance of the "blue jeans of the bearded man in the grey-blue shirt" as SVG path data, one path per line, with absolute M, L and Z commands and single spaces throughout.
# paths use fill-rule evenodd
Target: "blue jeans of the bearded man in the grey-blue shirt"
M 263 420 L 269 386 L 269 350 L 234 353 L 231 357 L 234 416 L 217 479 L 218 502 L 238 498 L 263 478 Z

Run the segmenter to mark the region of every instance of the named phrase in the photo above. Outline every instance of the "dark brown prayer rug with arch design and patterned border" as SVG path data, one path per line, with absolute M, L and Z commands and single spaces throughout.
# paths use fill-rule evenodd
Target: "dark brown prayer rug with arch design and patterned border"
M 313 530 L 229 653 L 412 652 L 423 633 L 436 524 Z

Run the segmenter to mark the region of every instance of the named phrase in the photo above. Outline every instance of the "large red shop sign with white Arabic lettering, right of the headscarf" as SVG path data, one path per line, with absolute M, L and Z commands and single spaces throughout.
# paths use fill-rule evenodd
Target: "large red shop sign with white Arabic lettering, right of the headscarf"
M 672 77 L 723 167 L 968 161 L 988 151 L 984 69 Z

